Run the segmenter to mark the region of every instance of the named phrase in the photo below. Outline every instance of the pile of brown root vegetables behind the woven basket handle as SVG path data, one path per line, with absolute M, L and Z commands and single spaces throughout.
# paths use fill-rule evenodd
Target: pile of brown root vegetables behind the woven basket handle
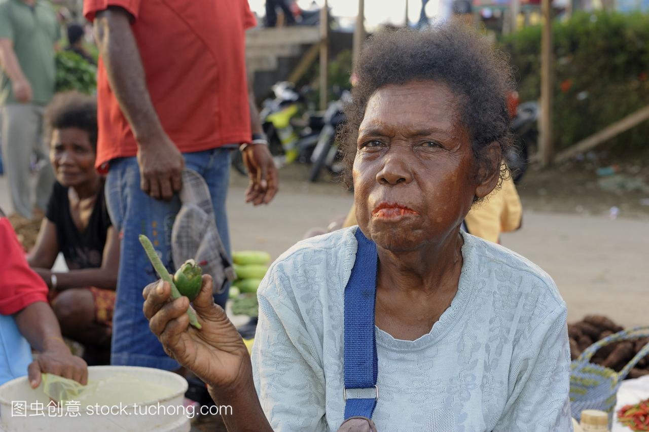
M 586 348 L 594 344 L 594 342 L 622 330 L 624 330 L 622 326 L 618 326 L 613 320 L 604 317 L 604 315 L 587 315 L 580 322 L 568 324 L 570 357 L 573 360 L 576 359 Z M 619 372 L 647 342 L 649 342 L 649 337 L 635 339 L 633 341 L 613 342 L 600 348 L 593 355 L 591 362 Z M 649 375 L 649 357 L 641 359 L 631 369 L 627 378 L 639 378 L 644 375 Z

